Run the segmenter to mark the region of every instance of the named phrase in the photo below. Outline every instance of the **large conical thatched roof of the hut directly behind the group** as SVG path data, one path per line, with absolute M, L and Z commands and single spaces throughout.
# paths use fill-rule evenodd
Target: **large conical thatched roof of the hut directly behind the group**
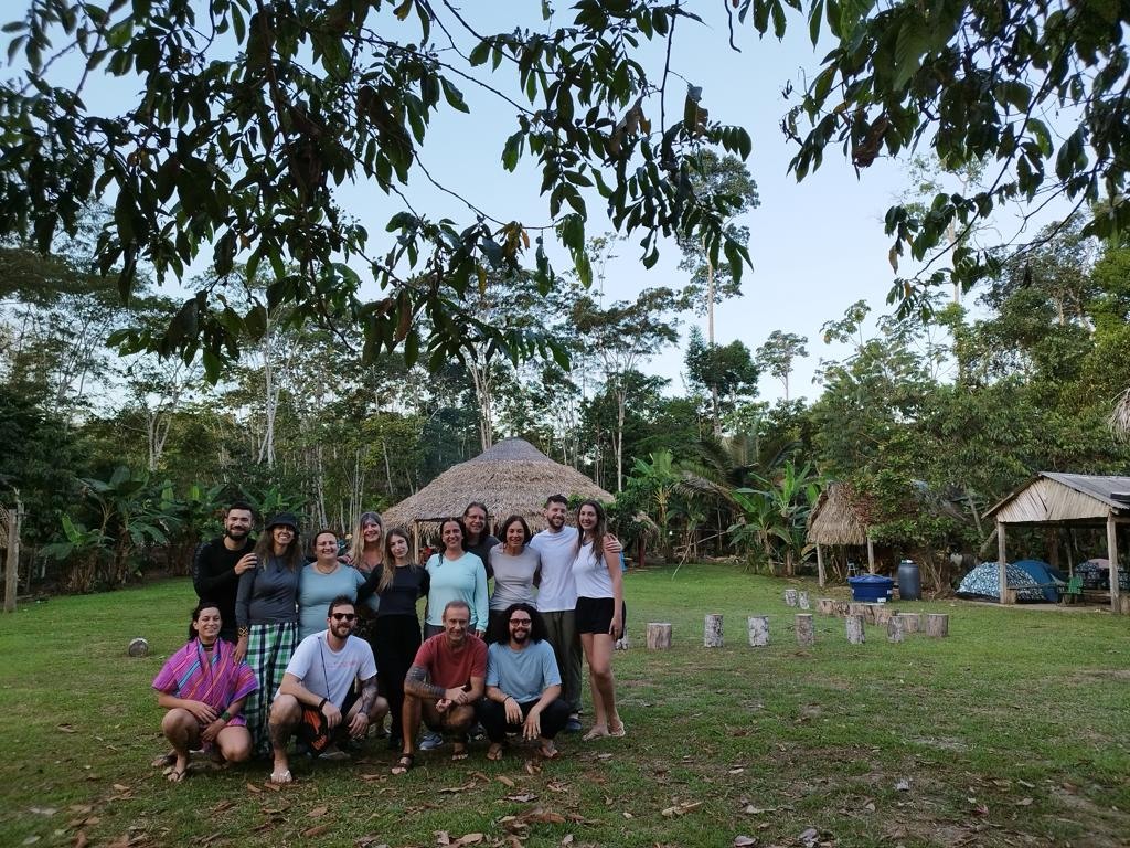
M 541 510 L 551 494 L 580 495 L 603 503 L 614 500 L 579 470 L 555 462 L 529 442 L 503 439 L 385 510 L 384 526 L 435 523 L 449 516 L 461 516 L 471 501 L 481 501 L 490 512 L 492 527 L 516 513 L 537 531 L 546 526 Z

